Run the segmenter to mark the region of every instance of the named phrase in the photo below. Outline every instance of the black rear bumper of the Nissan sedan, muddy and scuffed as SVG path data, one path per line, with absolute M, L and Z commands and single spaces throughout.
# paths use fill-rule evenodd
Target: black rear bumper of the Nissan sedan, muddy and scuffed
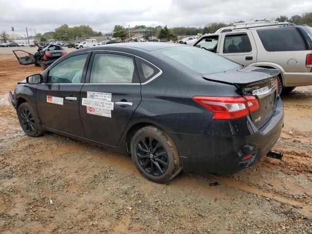
M 185 172 L 227 174 L 250 167 L 268 154 L 284 124 L 280 98 L 271 119 L 257 129 L 250 117 L 212 120 L 201 135 L 168 133 L 176 142 Z M 242 161 L 245 156 L 251 158 Z

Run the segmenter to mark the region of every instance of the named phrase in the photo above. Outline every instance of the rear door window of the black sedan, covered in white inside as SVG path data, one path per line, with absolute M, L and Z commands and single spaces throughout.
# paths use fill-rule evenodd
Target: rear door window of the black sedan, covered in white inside
M 90 83 L 137 83 L 133 58 L 116 54 L 96 54 Z

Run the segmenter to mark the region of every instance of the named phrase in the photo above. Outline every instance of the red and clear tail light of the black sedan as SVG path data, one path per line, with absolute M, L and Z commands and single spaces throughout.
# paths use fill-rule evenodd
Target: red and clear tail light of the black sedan
M 214 119 L 234 119 L 248 116 L 260 108 L 254 96 L 243 97 L 197 97 L 193 98 L 199 105 L 210 110 Z

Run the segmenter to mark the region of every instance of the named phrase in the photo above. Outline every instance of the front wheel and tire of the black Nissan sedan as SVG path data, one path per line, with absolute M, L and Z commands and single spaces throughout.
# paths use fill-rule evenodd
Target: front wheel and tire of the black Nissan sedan
M 35 115 L 35 111 L 28 102 L 23 102 L 20 104 L 18 109 L 18 117 L 22 130 L 29 137 L 39 137 L 44 134 L 42 125 L 37 118 L 37 115 Z

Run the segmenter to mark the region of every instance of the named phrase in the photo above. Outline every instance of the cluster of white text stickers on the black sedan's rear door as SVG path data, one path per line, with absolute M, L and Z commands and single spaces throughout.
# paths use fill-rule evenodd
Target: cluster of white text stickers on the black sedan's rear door
M 82 105 L 87 107 L 87 113 L 97 116 L 112 117 L 114 102 L 112 94 L 87 92 L 87 98 L 82 98 Z

